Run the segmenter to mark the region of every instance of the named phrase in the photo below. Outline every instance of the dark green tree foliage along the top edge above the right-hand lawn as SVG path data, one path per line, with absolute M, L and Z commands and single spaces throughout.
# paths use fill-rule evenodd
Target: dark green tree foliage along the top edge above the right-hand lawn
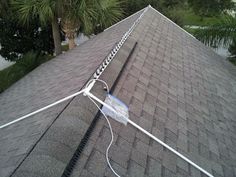
M 231 0 L 188 0 L 188 4 L 201 17 L 215 16 L 233 7 Z

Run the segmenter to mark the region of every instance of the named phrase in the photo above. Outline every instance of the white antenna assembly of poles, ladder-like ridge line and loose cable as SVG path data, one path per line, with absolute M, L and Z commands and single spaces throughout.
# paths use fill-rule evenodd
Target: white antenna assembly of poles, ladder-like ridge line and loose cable
M 109 161 L 109 158 L 108 158 L 108 151 L 109 151 L 109 148 L 110 148 L 110 146 L 111 146 L 111 144 L 112 144 L 112 142 L 113 142 L 112 127 L 111 127 L 111 125 L 110 125 L 110 122 L 109 122 L 108 118 L 107 118 L 106 115 L 104 114 L 104 112 L 99 108 L 99 106 L 96 104 L 96 102 L 95 102 L 93 99 L 95 99 L 96 101 L 98 101 L 98 102 L 101 103 L 102 105 L 107 106 L 107 107 L 108 107 L 109 109 L 111 109 L 112 111 L 114 111 L 114 109 L 112 109 L 109 105 L 106 105 L 106 103 L 104 103 L 103 101 L 101 101 L 100 99 L 98 99 L 96 96 L 94 96 L 93 94 L 91 94 L 89 91 L 92 89 L 92 87 L 93 87 L 93 85 L 95 84 L 96 81 L 103 82 L 103 83 L 106 85 L 107 90 L 109 91 L 109 88 L 108 88 L 108 85 L 106 84 L 106 82 L 103 81 L 103 80 L 100 80 L 100 79 L 98 79 L 98 78 L 101 76 L 102 72 L 106 69 L 106 67 L 108 66 L 108 64 L 109 64 L 109 63 L 111 62 L 111 60 L 114 58 L 114 56 L 116 55 L 116 53 L 117 53 L 117 51 L 119 50 L 119 48 L 123 45 L 123 43 L 125 42 L 125 40 L 127 39 L 127 37 L 128 37 L 128 36 L 131 34 L 131 32 L 134 30 L 134 27 L 137 25 L 138 21 L 142 18 L 142 16 L 144 15 L 144 13 L 147 11 L 147 9 L 148 9 L 149 7 L 151 7 L 151 6 L 148 6 L 148 7 L 145 8 L 144 12 L 139 16 L 139 18 L 134 22 L 134 24 L 131 26 L 131 28 L 130 28 L 130 29 L 125 33 L 125 35 L 122 37 L 121 41 L 120 41 L 119 44 L 117 45 L 118 47 L 117 47 L 117 50 L 115 51 L 115 53 L 114 53 L 112 56 L 109 55 L 109 57 L 108 57 L 108 58 L 106 59 L 106 61 L 105 61 L 106 63 L 103 63 L 102 65 L 100 65 L 99 69 L 97 69 L 97 72 L 94 73 L 95 79 L 90 80 L 90 81 L 86 84 L 85 89 L 83 89 L 83 90 L 81 90 L 81 91 L 79 91 L 79 92 L 76 92 L 76 93 L 74 93 L 74 94 L 72 94 L 72 95 L 70 95 L 70 96 L 68 96 L 68 97 L 65 97 L 65 98 L 63 98 L 63 99 L 61 99 L 61 100 L 58 100 L 58 101 L 56 101 L 56 102 L 54 102 L 54 103 L 52 103 L 52 104 L 50 104 L 50 105 L 47 105 L 47 106 L 45 106 L 45 107 L 43 107 L 43 108 L 41 108 L 41 109 L 38 109 L 38 110 L 36 110 L 36 111 L 34 111 L 34 112 L 31 112 L 31 113 L 29 113 L 29 114 L 27 114 L 27 115 L 25 115 L 25 116 L 22 116 L 22 117 L 20 117 L 20 118 L 14 120 L 14 121 L 11 121 L 11 122 L 9 122 L 9 123 L 6 123 L 6 124 L 4 124 L 4 125 L 1 125 L 1 126 L 0 126 L 0 129 L 5 128 L 5 127 L 7 127 L 7 126 L 10 126 L 10 125 L 12 125 L 12 124 L 14 124 L 14 123 L 16 123 L 16 122 L 19 122 L 19 121 L 21 121 L 21 120 L 24 120 L 24 119 L 26 119 L 26 118 L 28 118 L 28 117 L 30 117 L 30 116 L 33 116 L 33 115 L 35 115 L 35 114 L 37 114 L 37 113 L 40 113 L 40 112 L 42 112 L 42 111 L 44 111 L 44 110 L 47 110 L 47 109 L 49 109 L 49 108 L 51 108 L 51 107 L 53 107 L 53 106 L 55 106 L 55 105 L 57 105 L 57 104 L 59 104 L 59 103 L 62 103 L 62 102 L 64 102 L 64 101 L 66 101 L 66 100 L 69 100 L 69 99 L 71 99 L 71 98 L 73 98 L 73 97 L 75 97 L 75 96 L 77 96 L 77 95 L 80 95 L 80 94 L 84 93 L 84 95 L 85 95 L 85 96 L 88 96 L 88 98 L 98 107 L 98 109 L 99 109 L 99 110 L 101 111 L 101 113 L 105 116 L 105 118 L 106 118 L 106 120 L 107 120 L 107 122 L 108 122 L 109 128 L 110 128 L 110 130 L 111 130 L 112 138 L 111 138 L 111 142 L 110 142 L 110 144 L 109 144 L 109 146 L 108 146 L 108 148 L 107 148 L 107 150 L 106 150 L 106 159 L 107 159 L 107 163 L 108 163 L 110 169 L 112 170 L 112 172 L 113 172 L 117 177 L 120 177 L 120 176 L 114 171 L 114 169 L 112 168 L 112 166 L 111 166 L 111 164 L 110 164 L 110 161 Z M 93 83 L 92 83 L 92 82 L 93 82 Z M 92 84 L 91 84 L 91 83 L 92 83 Z M 93 99 L 92 99 L 91 97 L 92 97 Z M 128 121 L 131 125 L 133 125 L 134 127 L 136 127 L 137 129 L 139 129 L 140 131 L 142 131 L 143 133 L 145 133 L 147 136 L 149 136 L 150 138 L 152 138 L 152 139 L 155 140 L 156 142 L 160 143 L 161 145 L 163 145 L 164 147 L 166 147 L 167 149 L 169 149 L 170 151 L 172 151 L 174 154 L 176 154 L 177 156 L 179 156 L 179 157 L 182 158 L 183 160 L 185 160 L 185 161 L 187 161 L 188 163 L 190 163 L 192 166 L 194 166 L 195 168 L 197 168 L 198 170 L 200 170 L 201 172 L 203 172 L 203 173 L 206 174 L 207 176 L 209 176 L 209 177 L 214 177 L 213 175 L 211 175 L 210 173 L 208 173 L 206 170 L 204 170 L 203 168 L 199 167 L 197 164 L 195 164 L 194 162 L 192 162 L 191 160 L 189 160 L 188 158 L 186 158 L 185 156 L 183 156 L 182 154 L 180 154 L 178 151 L 176 151 L 175 149 L 171 148 L 169 145 L 165 144 L 164 142 L 162 142 L 161 140 L 159 140 L 158 138 L 156 138 L 155 136 L 153 136 L 151 133 L 149 133 L 148 131 L 146 131 L 145 129 L 143 129 L 142 127 L 140 127 L 139 125 L 137 125 L 137 124 L 134 123 L 133 121 L 131 121 L 131 120 L 129 120 L 129 119 L 127 119 L 127 121 Z

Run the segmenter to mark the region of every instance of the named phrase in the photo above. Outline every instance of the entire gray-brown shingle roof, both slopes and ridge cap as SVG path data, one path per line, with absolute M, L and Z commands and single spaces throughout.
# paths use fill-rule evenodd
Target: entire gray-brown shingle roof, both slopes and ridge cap
M 141 12 L 1 94 L 0 123 L 80 89 Z M 214 176 L 230 177 L 236 176 L 235 76 L 232 64 L 149 7 L 101 79 L 129 106 L 130 119 Z M 105 98 L 101 84 L 92 92 Z M 203 176 L 129 124 L 111 124 L 109 157 L 118 174 Z M 0 176 L 114 176 L 105 159 L 109 141 L 105 119 L 77 96 L 0 131 Z

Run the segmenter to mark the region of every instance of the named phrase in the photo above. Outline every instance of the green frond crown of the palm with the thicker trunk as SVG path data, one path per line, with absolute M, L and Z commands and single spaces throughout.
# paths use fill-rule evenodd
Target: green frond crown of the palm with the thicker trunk
M 59 0 L 66 1 L 66 0 Z M 69 3 L 70 2 L 70 3 Z M 83 32 L 90 34 L 96 25 L 108 27 L 123 15 L 120 0 L 71 0 L 63 4 L 63 17 L 77 22 Z

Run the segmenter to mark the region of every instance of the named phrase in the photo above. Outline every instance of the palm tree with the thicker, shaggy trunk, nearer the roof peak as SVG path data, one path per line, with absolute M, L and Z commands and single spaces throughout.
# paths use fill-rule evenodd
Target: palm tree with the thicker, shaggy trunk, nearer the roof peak
M 107 27 L 123 14 L 119 0 L 61 0 L 62 30 L 69 39 L 69 49 L 75 47 L 78 31 L 91 34 L 96 25 Z

